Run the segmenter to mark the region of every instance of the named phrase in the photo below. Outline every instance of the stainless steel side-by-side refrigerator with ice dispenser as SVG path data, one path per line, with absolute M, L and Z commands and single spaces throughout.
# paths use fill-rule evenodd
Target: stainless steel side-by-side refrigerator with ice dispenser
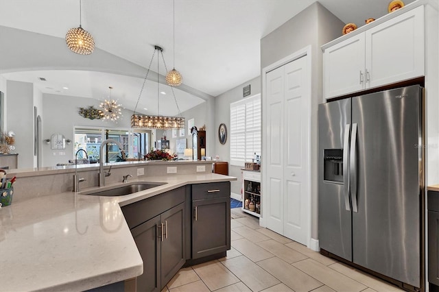
M 323 254 L 423 285 L 423 88 L 320 104 Z

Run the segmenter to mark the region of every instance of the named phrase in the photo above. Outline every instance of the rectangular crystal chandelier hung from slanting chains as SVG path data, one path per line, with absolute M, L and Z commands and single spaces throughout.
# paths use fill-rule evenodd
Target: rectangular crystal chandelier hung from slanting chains
M 143 92 L 143 88 L 145 88 L 145 82 L 147 80 L 148 73 L 150 73 L 152 60 L 154 60 L 154 56 L 156 54 L 156 51 L 161 54 L 163 59 L 163 64 L 165 64 L 166 69 L 166 62 L 165 58 L 163 57 L 163 49 L 158 46 L 154 46 L 154 53 L 152 54 L 152 58 L 150 60 L 150 65 L 148 66 L 148 69 L 145 74 L 145 78 L 143 80 L 143 85 L 140 90 L 139 98 L 137 99 L 136 107 L 134 108 L 134 113 L 131 116 L 131 127 L 133 128 L 148 128 L 148 129 L 162 129 L 162 130 L 169 130 L 169 129 L 180 129 L 185 127 L 185 118 L 181 117 L 180 108 L 178 108 L 178 103 L 176 99 L 176 95 L 174 93 L 174 88 L 171 87 L 172 95 L 174 96 L 174 101 L 176 102 L 178 114 L 180 117 L 163 117 L 160 114 L 160 102 L 159 102 L 159 96 L 160 96 L 160 90 L 159 90 L 159 80 L 158 77 L 160 76 L 158 73 L 158 56 L 157 56 L 157 115 L 151 116 L 151 115 L 145 115 L 145 114 L 136 114 L 137 106 L 139 105 L 140 97 Z

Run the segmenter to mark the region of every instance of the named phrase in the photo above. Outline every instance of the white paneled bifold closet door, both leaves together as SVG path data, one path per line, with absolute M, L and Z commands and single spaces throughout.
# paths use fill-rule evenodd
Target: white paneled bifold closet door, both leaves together
M 270 230 L 307 245 L 309 114 L 307 56 L 265 75 L 263 216 Z

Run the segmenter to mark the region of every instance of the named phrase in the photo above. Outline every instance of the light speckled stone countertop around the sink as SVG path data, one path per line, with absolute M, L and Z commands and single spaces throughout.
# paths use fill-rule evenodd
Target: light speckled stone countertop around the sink
M 237 178 L 163 175 L 141 181 L 167 184 L 121 197 L 66 192 L 12 200 L 0 209 L 0 291 L 83 291 L 139 276 L 143 261 L 120 206 L 186 184 L 231 180 Z M 99 187 L 83 191 L 93 189 Z

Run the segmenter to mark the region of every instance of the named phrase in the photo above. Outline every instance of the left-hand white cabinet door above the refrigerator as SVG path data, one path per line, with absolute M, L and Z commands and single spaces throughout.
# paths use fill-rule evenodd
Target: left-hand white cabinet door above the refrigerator
M 348 38 L 323 53 L 323 95 L 328 99 L 364 89 L 364 34 Z

